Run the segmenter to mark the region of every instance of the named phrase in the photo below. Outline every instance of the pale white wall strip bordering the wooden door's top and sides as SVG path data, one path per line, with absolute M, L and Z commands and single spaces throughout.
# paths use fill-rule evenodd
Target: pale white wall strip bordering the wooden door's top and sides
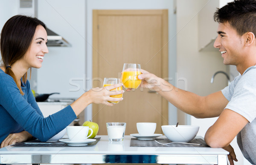
M 168 9 L 169 21 L 169 77 L 170 83 L 175 84 L 176 72 L 176 15 L 173 0 L 87 0 L 87 59 L 86 75 L 92 77 L 92 10 L 93 9 Z M 167 68 L 166 68 L 167 69 Z M 87 84 L 87 88 L 89 88 Z M 91 106 L 87 108 L 87 120 L 91 116 Z M 177 109 L 169 104 L 169 124 L 176 124 Z

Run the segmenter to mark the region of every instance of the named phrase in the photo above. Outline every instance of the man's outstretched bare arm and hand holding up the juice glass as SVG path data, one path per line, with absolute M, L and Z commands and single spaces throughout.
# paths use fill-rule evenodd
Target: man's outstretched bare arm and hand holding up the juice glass
M 228 100 L 221 91 L 201 97 L 189 91 L 178 89 L 167 81 L 142 70 L 139 79 L 143 88 L 157 91 L 162 97 L 181 111 L 197 118 L 218 117 L 226 107 Z

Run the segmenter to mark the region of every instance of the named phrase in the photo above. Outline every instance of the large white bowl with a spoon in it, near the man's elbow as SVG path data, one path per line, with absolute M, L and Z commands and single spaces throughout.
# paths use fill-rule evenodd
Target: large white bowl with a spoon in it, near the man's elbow
M 172 142 L 189 142 L 195 138 L 199 126 L 193 125 L 162 125 L 164 135 Z

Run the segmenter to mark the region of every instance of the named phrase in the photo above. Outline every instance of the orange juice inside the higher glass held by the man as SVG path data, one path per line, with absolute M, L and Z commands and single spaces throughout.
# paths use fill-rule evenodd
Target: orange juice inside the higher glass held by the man
M 125 88 L 138 88 L 140 86 L 141 80 L 138 79 L 138 75 L 141 74 L 140 71 L 123 71 L 122 72 L 122 83 Z

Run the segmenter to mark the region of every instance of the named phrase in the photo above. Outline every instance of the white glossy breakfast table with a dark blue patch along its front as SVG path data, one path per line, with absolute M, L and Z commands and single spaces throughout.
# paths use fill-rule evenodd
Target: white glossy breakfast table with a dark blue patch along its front
M 40 163 L 160 163 L 227 165 L 228 152 L 204 147 L 130 147 L 131 136 L 123 142 L 101 137 L 93 146 L 15 147 L 0 149 L 0 164 Z M 160 138 L 166 138 L 162 136 Z

